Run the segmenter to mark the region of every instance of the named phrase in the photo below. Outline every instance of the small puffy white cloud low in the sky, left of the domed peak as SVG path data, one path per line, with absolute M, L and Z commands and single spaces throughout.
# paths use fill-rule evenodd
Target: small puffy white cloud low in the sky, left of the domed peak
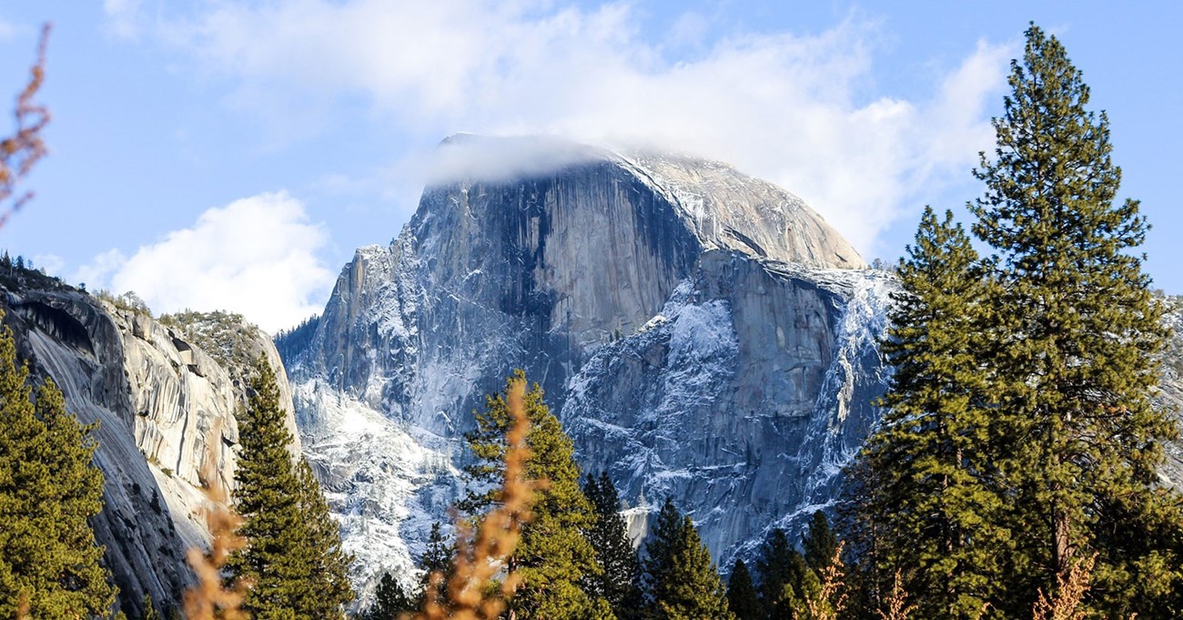
M 136 291 L 156 312 L 231 310 L 274 332 L 323 308 L 334 278 L 317 257 L 325 241 L 298 200 L 259 194 L 211 208 L 130 258 L 99 254 L 76 278 Z

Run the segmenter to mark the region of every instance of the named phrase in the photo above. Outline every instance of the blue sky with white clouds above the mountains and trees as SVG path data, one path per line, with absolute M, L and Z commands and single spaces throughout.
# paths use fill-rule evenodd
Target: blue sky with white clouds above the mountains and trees
M 1176 2 L 164 2 L 0 6 L 0 93 L 54 25 L 51 154 L 0 246 L 156 311 L 264 328 L 317 311 L 386 244 L 457 131 L 720 159 L 804 198 L 870 260 L 959 208 L 1034 20 L 1108 111 L 1120 195 L 1183 293 Z M 4 86 L 6 85 L 7 86 Z

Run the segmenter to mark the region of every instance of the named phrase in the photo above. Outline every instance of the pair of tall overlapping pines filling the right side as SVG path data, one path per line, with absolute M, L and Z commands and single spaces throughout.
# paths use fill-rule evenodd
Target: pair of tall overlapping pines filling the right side
M 1029 616 L 1094 562 L 1084 613 L 1177 618 L 1183 510 L 1157 474 L 1177 433 L 1150 401 L 1166 329 L 1137 254 L 1146 224 L 1114 200 L 1108 120 L 1080 71 L 1054 37 L 1026 35 L 975 170 L 972 230 L 994 253 L 929 209 L 900 263 L 890 412 L 851 472 L 862 586 L 885 593 L 898 571 L 923 618 Z

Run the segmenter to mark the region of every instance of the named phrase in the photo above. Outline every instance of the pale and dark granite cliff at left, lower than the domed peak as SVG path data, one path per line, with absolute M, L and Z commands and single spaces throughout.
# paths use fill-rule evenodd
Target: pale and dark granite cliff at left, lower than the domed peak
M 101 422 L 95 461 L 106 484 L 92 525 L 121 608 L 140 618 L 144 595 L 157 609 L 179 608 L 192 581 L 185 553 L 208 541 L 201 514 L 207 454 L 222 482 L 234 478 L 234 412 L 245 402 L 246 368 L 207 354 L 193 329 L 186 334 L 40 279 L 52 285 L 0 285 L 0 309 L 34 376 L 53 377 L 83 424 Z M 280 388 L 290 394 L 266 335 L 247 325 L 238 331 L 245 347 L 280 369 Z

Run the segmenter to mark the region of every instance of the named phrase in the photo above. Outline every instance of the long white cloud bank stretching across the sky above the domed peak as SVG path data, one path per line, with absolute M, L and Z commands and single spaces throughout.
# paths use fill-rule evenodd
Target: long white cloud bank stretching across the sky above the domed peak
M 916 211 L 918 193 L 964 177 L 989 148 L 983 101 L 1001 88 L 1007 57 L 983 44 L 935 97 L 868 98 L 877 33 L 855 20 L 808 37 L 704 41 L 692 59 L 670 62 L 662 46 L 700 38 L 700 18 L 687 13 L 655 41 L 627 4 L 208 6 L 164 35 L 228 77 L 227 99 L 265 122 L 310 128 L 303 120 L 361 96 L 380 122 L 420 138 L 555 134 L 700 154 L 800 194 L 864 251 Z

